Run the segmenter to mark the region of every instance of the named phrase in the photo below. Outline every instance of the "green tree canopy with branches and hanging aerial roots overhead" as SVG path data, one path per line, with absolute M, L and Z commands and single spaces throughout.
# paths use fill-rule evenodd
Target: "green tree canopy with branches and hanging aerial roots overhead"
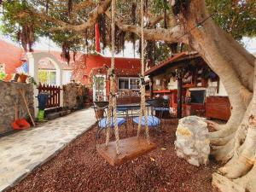
M 181 6 L 186 1 L 177 2 L 177 6 Z M 20 42 L 26 51 L 32 50 L 32 44 L 38 37 L 49 37 L 62 47 L 62 55 L 69 60 L 70 51 L 85 48 L 90 53 L 94 52 L 96 22 L 100 26 L 103 49 L 110 46 L 110 3 L 110 0 L 6 0 L 3 1 L 1 29 L 5 35 Z M 176 10 L 171 8 L 171 3 L 171 0 L 145 0 L 145 28 L 169 29 L 177 26 Z M 138 1 L 118 0 L 117 7 L 119 21 L 126 25 L 140 25 L 141 8 Z M 218 26 L 237 40 L 255 35 L 255 7 L 255 1 L 207 0 L 207 8 Z M 133 42 L 134 49 L 139 52 L 140 46 L 136 44 L 138 39 L 134 32 L 116 27 L 117 52 L 125 48 L 126 41 Z M 177 51 L 177 48 L 181 49 L 181 44 L 164 40 L 148 39 L 148 61 L 160 61 Z

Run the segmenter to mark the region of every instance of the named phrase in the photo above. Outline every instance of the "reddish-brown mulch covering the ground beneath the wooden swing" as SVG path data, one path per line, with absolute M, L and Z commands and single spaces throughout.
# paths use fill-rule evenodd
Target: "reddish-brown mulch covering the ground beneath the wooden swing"
M 158 148 L 114 167 L 96 153 L 94 127 L 8 191 L 212 191 L 212 172 L 218 165 L 211 161 L 207 166 L 195 167 L 178 159 L 174 148 L 176 127 L 177 120 L 172 119 L 162 133 L 150 131 Z M 128 134 L 136 135 L 136 131 L 131 129 Z M 120 137 L 125 137 L 123 127 Z M 103 133 L 100 142 L 104 142 Z

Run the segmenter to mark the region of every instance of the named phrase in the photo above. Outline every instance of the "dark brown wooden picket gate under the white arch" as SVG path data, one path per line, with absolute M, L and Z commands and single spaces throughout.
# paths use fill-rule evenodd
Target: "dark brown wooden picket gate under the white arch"
M 61 87 L 49 84 L 38 84 L 38 93 L 47 92 L 49 100 L 46 108 L 59 108 L 61 106 Z

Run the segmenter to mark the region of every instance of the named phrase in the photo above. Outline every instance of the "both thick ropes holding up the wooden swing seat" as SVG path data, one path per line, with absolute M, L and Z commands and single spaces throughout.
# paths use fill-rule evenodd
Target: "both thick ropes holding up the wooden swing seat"
M 144 65 L 144 52 L 145 52 L 145 42 L 144 42 L 144 32 L 143 32 L 143 0 L 141 0 L 141 33 L 142 33 L 142 75 L 140 79 L 140 91 L 141 91 L 141 110 L 140 110 L 140 116 L 139 116 L 139 124 L 138 124 L 138 129 L 137 129 L 137 137 L 140 136 L 140 132 L 142 129 L 142 120 L 143 120 L 143 115 L 144 115 L 144 120 L 145 120 L 145 132 L 146 132 L 146 137 L 147 137 L 147 142 L 148 144 L 150 143 L 149 141 L 149 131 L 148 131 L 148 113 L 146 110 L 146 101 L 145 101 L 145 81 L 144 81 L 144 76 L 145 76 L 145 65 Z M 108 107 L 108 129 L 107 129 L 107 136 L 106 136 L 106 147 L 108 146 L 109 143 L 109 137 L 110 137 L 110 129 L 112 122 L 114 123 L 114 135 L 115 135 L 115 144 L 116 144 L 116 154 L 119 153 L 119 127 L 117 124 L 117 107 L 116 107 L 116 94 L 115 94 L 115 89 L 116 89 L 116 81 L 115 81 L 115 74 L 114 74 L 114 42 L 115 42 L 115 24 L 114 24 L 114 17 L 115 17 L 115 11 L 116 11 L 116 0 L 112 0 L 111 3 L 111 68 L 109 69 L 111 73 L 109 73 L 109 79 L 110 79 L 110 95 L 109 95 L 109 107 Z M 113 117 L 112 117 L 112 112 L 113 112 Z

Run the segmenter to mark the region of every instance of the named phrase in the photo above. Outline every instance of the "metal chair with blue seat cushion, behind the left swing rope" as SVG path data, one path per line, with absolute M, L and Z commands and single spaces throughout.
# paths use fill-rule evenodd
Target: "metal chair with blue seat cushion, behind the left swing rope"
M 98 131 L 96 132 L 96 139 L 99 138 L 100 133 L 102 130 L 108 128 L 108 105 L 109 102 L 93 102 L 94 106 L 94 110 L 95 110 L 95 114 L 96 114 L 96 124 L 98 125 Z M 103 116 L 99 117 L 99 111 L 102 110 L 103 111 Z M 111 122 L 110 122 L 110 127 L 113 128 L 114 127 L 114 122 L 113 122 L 113 114 L 111 115 Z M 126 119 L 124 118 L 117 118 L 117 125 L 121 126 L 124 125 L 126 122 Z M 125 128 L 126 128 L 126 133 L 127 133 L 127 126 L 125 124 Z

